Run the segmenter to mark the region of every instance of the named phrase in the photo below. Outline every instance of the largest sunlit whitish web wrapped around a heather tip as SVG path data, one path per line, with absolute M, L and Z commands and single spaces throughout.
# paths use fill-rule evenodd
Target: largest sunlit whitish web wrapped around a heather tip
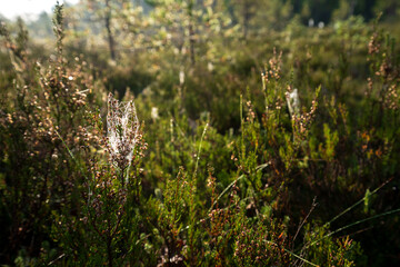
M 140 139 L 139 120 L 133 101 L 120 102 L 108 97 L 108 150 L 112 164 L 126 170 L 132 161 L 134 147 Z

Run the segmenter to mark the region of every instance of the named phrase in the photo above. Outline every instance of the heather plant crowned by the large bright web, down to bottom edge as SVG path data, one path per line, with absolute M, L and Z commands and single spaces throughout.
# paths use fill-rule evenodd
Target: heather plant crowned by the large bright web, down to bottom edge
M 62 255 L 68 255 L 64 263 L 90 266 L 104 260 L 109 266 L 134 263 L 140 239 L 139 166 L 147 145 L 133 101 L 119 102 L 109 95 L 107 134 L 98 112 L 91 112 L 89 118 L 88 130 L 98 136 L 98 144 L 89 149 L 101 154 L 90 155 L 87 170 L 82 170 L 86 180 L 77 188 L 81 198 L 74 204 L 78 206 L 69 207 L 77 208 L 76 214 L 68 209 L 53 214 L 52 236 Z M 101 157 L 104 151 L 107 158 Z

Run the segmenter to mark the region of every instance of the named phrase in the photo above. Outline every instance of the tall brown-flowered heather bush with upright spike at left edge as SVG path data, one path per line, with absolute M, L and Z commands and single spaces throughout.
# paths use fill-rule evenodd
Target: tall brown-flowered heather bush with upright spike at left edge
M 29 78 L 22 76 L 14 81 L 13 105 L 1 109 L 2 162 L 8 166 L 3 172 L 7 186 L 1 194 L 3 240 L 9 241 L 2 250 L 6 260 L 21 248 L 29 255 L 39 255 L 41 243 L 48 240 L 51 211 L 64 201 L 74 201 L 71 185 L 82 177 L 72 171 L 74 164 L 60 137 L 72 151 L 96 139 L 79 126 L 84 117 L 82 107 L 92 101 L 91 80 L 81 71 L 82 66 L 69 68 L 63 61 L 60 12 L 61 7 L 58 7 L 54 18 L 57 60 L 50 67 L 37 65 L 34 70 L 27 69 L 23 75 Z M 11 57 L 26 55 L 22 48 L 14 50 L 11 41 L 7 38 Z M 21 60 L 14 63 L 33 66 L 28 58 L 21 59 L 27 63 Z M 16 71 L 20 76 L 18 66 Z

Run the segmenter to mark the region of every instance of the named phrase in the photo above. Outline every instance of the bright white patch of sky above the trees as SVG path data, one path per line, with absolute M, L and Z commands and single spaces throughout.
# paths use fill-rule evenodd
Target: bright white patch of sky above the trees
M 79 0 L 60 0 L 62 2 L 77 3 Z M 34 19 L 42 11 L 51 12 L 57 0 L 0 0 L 0 13 L 8 19 L 18 16 Z

